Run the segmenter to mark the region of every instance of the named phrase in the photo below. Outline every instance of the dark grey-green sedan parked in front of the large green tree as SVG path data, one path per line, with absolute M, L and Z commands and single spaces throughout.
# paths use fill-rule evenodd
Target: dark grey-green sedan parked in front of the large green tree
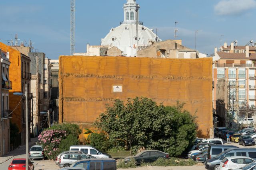
M 130 161 L 132 158 L 135 159 L 136 164 L 140 164 L 142 160 L 143 162 L 154 162 L 158 158 L 169 158 L 169 154 L 160 150 L 144 150 L 135 156 L 128 156 L 124 158 L 124 162 Z

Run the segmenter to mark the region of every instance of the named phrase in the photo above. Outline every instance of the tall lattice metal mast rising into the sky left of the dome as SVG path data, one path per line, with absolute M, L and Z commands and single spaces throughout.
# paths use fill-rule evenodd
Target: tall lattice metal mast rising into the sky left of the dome
M 70 0 L 70 55 L 74 55 L 75 52 L 75 1 Z

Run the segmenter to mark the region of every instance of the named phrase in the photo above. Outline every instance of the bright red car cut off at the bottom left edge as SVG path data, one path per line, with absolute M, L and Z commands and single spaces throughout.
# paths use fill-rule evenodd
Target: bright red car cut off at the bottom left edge
M 28 170 L 34 170 L 34 162 L 28 160 Z M 26 158 L 13 159 L 8 170 L 26 170 Z

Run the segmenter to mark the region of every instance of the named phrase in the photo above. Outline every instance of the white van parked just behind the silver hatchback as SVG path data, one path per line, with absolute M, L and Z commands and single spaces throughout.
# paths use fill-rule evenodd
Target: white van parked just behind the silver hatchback
M 99 150 L 90 145 L 72 145 L 69 150 L 79 150 L 85 154 L 90 154 L 96 158 L 111 158 L 109 154 L 100 152 Z

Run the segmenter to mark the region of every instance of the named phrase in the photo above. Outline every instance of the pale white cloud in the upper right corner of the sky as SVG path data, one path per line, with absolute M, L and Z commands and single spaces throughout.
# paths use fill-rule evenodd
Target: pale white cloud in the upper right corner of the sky
M 237 15 L 256 8 L 255 0 L 221 0 L 214 6 L 218 15 Z

